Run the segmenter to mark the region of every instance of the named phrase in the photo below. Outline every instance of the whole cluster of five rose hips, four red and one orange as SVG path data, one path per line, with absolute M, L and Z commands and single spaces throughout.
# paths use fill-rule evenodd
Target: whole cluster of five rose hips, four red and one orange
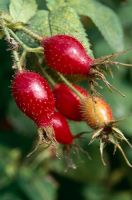
M 83 45 L 69 35 L 55 35 L 41 41 L 44 50 L 44 61 L 62 78 L 54 83 L 51 90 L 43 76 L 26 68 L 18 69 L 12 80 L 13 98 L 20 108 L 38 126 L 38 144 L 58 142 L 67 147 L 73 145 L 74 136 L 66 120 L 85 121 L 94 131 L 90 142 L 100 141 L 100 153 L 103 163 L 103 149 L 107 143 L 119 149 L 129 166 L 119 142 L 131 144 L 116 127 L 116 120 L 110 106 L 103 98 L 91 94 L 83 87 L 71 84 L 63 75 L 82 75 L 87 77 L 93 86 L 96 79 L 103 80 L 102 64 L 108 60 L 93 59 Z

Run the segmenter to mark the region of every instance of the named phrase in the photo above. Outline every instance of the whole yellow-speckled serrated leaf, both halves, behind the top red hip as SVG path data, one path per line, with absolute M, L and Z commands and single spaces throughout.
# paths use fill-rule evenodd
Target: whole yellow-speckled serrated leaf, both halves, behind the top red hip
M 27 27 L 43 36 L 55 34 L 70 34 L 79 39 L 85 46 L 87 52 L 93 56 L 90 49 L 85 30 L 77 16 L 76 12 L 69 7 L 62 7 L 55 11 L 40 10 L 28 21 Z M 31 47 L 36 47 L 37 43 L 23 32 L 18 36 L 24 43 Z

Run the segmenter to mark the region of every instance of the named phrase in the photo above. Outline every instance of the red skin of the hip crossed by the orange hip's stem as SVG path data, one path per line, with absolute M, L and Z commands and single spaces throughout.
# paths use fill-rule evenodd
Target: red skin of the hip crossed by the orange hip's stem
M 88 92 L 78 86 L 73 85 L 84 97 L 87 97 Z M 55 97 L 55 105 L 59 112 L 66 118 L 74 121 L 81 121 L 82 114 L 80 111 L 80 98 L 65 84 L 57 84 L 53 89 Z

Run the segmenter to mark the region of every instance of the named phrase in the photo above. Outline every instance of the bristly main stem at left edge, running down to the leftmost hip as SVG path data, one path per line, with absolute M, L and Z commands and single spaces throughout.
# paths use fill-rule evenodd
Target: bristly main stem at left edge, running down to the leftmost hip
M 11 45 L 17 45 L 17 43 L 16 43 L 16 41 L 10 36 L 10 33 L 9 33 L 9 31 L 8 31 L 8 28 L 5 26 L 5 23 L 4 23 L 4 20 L 1 18 L 1 26 L 2 26 L 2 28 L 3 28 L 3 31 L 4 31 L 4 33 L 5 33 L 5 36 L 6 36 L 6 39 L 7 39 L 7 42 L 8 42 L 8 44 L 11 44 Z M 22 70 L 22 66 L 21 66 L 21 64 L 20 64 L 20 59 L 19 59 L 19 54 L 18 54 L 18 52 L 17 52 L 17 50 L 16 50 L 16 47 L 15 46 L 13 46 L 12 48 L 11 48 L 11 50 L 12 50 L 12 55 L 13 55 L 13 58 L 14 58 L 14 60 L 15 60 L 15 64 L 17 65 L 17 68 L 18 68 L 18 70 Z

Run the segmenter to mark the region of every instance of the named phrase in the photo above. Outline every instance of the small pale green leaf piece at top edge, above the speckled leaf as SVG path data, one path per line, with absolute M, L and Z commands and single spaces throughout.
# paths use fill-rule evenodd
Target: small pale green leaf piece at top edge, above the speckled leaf
M 49 10 L 55 10 L 58 9 L 58 7 L 62 6 L 65 4 L 64 0 L 46 0 L 47 2 L 47 7 Z

